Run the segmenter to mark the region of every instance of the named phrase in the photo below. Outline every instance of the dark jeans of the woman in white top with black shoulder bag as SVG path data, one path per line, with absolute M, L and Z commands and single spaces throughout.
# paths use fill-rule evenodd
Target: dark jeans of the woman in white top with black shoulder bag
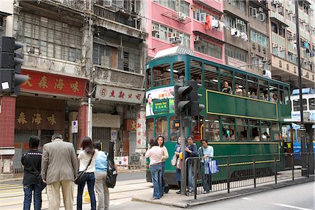
M 87 183 L 87 190 L 89 191 L 91 200 L 91 210 L 96 210 L 96 200 L 94 194 L 94 183 L 95 176 L 94 173 L 85 173 L 85 179 L 78 184 L 78 197 L 76 197 L 76 209 L 82 210 L 82 195 L 85 183 Z

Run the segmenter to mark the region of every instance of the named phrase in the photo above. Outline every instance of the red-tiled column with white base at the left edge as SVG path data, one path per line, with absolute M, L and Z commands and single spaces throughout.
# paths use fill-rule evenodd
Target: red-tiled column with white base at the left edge
M 13 178 L 16 97 L 0 97 L 0 179 Z

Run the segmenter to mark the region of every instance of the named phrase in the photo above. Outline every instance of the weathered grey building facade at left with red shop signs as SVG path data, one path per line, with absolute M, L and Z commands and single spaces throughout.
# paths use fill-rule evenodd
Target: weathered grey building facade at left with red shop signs
M 25 43 L 20 95 L 1 95 L 1 177 L 22 169 L 30 135 L 116 141 L 116 156 L 145 147 L 143 1 L 5 1 L 3 35 Z M 74 124 L 76 125 L 74 125 Z M 74 127 L 78 127 L 75 132 Z M 14 156 L 14 158 L 13 158 Z

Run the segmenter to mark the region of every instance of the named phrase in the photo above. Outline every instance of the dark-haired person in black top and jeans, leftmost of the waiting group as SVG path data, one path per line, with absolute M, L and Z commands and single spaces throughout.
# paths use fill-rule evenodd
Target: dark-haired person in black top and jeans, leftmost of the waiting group
M 38 137 L 29 138 L 29 151 L 22 155 L 24 168 L 23 189 L 24 204 L 23 210 L 31 209 L 31 195 L 34 194 L 34 210 L 41 209 L 41 151 L 38 150 Z

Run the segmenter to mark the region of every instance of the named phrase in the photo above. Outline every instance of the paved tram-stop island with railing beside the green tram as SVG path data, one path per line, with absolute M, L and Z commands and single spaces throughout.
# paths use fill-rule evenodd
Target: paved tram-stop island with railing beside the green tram
M 160 200 L 151 200 L 153 195 L 153 190 L 150 194 L 148 193 L 137 193 L 137 195 L 132 196 L 132 201 L 137 202 L 148 202 L 152 204 L 161 204 L 170 207 L 195 207 L 200 204 L 208 204 L 211 202 L 217 202 L 221 200 L 227 200 L 233 197 L 241 197 L 245 195 L 251 195 L 253 193 L 260 193 L 266 190 L 272 190 L 276 188 L 283 188 L 286 186 L 293 186 L 299 183 L 307 183 L 314 181 L 314 176 L 309 178 L 297 178 L 294 181 L 278 181 L 277 184 L 274 183 L 265 183 L 260 184 L 254 188 L 253 186 L 247 186 L 244 188 L 235 188 L 228 190 L 213 192 L 209 194 L 197 195 L 197 200 L 194 199 L 194 196 L 185 196 L 176 194 L 177 190 L 169 190 L 169 193 L 165 194 Z

